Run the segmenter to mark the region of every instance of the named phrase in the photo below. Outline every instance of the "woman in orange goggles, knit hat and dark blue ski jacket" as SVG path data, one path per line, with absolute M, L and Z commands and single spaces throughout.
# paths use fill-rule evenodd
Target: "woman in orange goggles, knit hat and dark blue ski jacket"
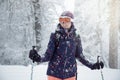
M 80 36 L 72 22 L 74 16 L 70 11 L 65 11 L 59 17 L 57 30 L 50 36 L 45 56 L 38 55 L 36 50 L 30 51 L 30 59 L 35 62 L 49 61 L 48 80 L 75 80 L 77 73 L 76 59 L 90 69 L 103 68 L 103 62 L 90 63 L 82 53 Z

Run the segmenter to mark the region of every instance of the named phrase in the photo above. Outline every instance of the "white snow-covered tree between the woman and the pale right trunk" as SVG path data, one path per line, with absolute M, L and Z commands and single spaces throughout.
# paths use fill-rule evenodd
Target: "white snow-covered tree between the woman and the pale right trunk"
M 75 2 L 75 24 L 81 35 L 84 54 L 91 61 L 100 55 L 108 66 L 108 0 L 78 0 Z

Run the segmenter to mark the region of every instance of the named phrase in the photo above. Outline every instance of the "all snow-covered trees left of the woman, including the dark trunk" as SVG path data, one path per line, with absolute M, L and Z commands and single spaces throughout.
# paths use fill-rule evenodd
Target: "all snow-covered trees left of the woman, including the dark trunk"
M 32 45 L 44 54 L 63 10 L 61 0 L 0 0 L 0 64 L 28 64 Z

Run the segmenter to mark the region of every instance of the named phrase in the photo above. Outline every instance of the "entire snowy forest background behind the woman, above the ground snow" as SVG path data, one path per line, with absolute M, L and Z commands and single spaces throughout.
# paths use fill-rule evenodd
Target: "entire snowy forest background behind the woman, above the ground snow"
M 119 0 L 0 0 L 0 64 L 29 65 L 33 45 L 43 55 L 65 10 L 74 13 L 86 58 L 120 68 Z

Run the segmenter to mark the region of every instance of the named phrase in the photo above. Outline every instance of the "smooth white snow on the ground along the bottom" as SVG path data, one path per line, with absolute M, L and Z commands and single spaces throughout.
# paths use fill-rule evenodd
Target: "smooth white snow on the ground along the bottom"
M 47 65 L 34 66 L 33 80 L 47 80 Z M 119 69 L 103 70 L 104 80 L 120 80 Z M 0 80 L 30 80 L 31 66 L 0 66 Z M 78 66 L 78 80 L 102 80 L 100 70 Z

